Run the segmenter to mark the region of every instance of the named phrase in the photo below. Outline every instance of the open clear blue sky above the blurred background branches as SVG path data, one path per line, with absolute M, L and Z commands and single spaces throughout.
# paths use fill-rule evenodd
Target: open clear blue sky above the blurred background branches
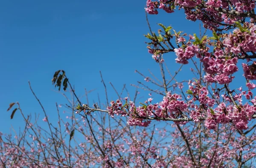
M 127 84 L 133 97 L 135 89 L 129 84 L 143 81 L 135 69 L 148 74 L 150 68 L 159 75 L 159 66 L 144 43 L 143 34 L 149 31 L 145 3 L 146 0 L 1 1 L 0 131 L 23 125 L 19 113 L 10 120 L 11 112 L 6 109 L 11 102 L 20 102 L 25 114 L 40 113 L 41 122 L 43 111 L 29 90 L 28 80 L 47 114 L 56 115 L 55 102 L 66 103 L 51 84 L 58 69 L 67 72 L 79 95 L 84 94 L 84 88 L 97 89 L 89 95 L 91 104 L 92 100 L 97 101 L 97 93 L 105 101 L 100 70 L 113 100 L 117 97 L 108 82 L 118 91 Z M 187 21 L 183 11 L 160 11 L 158 15 L 149 15 L 149 21 L 156 32 L 160 28 L 156 23 L 172 25 L 188 34 L 199 32 L 199 22 Z M 175 57 L 173 53 L 165 57 L 171 71 L 180 66 L 175 64 Z M 186 71 L 181 75 L 186 75 Z M 147 94 L 141 101 L 148 98 Z

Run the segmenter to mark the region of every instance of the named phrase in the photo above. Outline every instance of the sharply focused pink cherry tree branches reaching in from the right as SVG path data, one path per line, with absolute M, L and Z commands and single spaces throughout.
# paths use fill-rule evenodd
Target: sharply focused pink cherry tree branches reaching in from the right
M 151 104 L 149 98 L 142 106 L 135 106 L 127 99 L 124 105 L 117 100 L 112 101 L 105 112 L 112 117 L 114 114 L 128 116 L 128 125 L 148 126 L 151 120 L 181 123 L 204 120 L 209 129 L 215 129 L 217 123 L 229 122 L 239 130 L 247 129 L 248 121 L 256 117 L 256 99 L 251 91 L 256 87 L 251 81 L 256 79 L 256 62 L 252 60 L 256 57 L 255 1 L 147 0 L 145 10 L 149 14 L 158 14 L 157 9 L 172 13 L 177 7 L 184 9 L 188 20 L 201 20 L 205 28 L 212 30 L 212 37 L 197 37 L 194 34 L 186 39 L 186 33 L 174 30 L 172 33 L 171 26 L 162 24 L 159 24 L 162 29 L 158 30 L 158 35 L 151 31 L 145 37 L 151 41 L 147 43 L 148 52 L 153 54 L 153 59 L 160 65 L 164 62 L 163 54 L 168 52 L 175 52 L 175 60 L 180 64 L 188 64 L 188 60 L 194 56 L 198 58 L 200 77 L 189 81 L 189 90 L 186 92 L 189 96 L 186 98 L 168 91 L 169 83 L 164 80 L 165 95 L 159 103 Z M 241 65 L 247 89 L 230 89 L 234 73 L 239 70 L 237 64 L 244 59 L 247 63 Z M 194 60 L 192 62 L 196 63 Z M 208 88 L 211 88 L 212 93 Z M 242 103 L 243 96 L 248 100 L 245 103 Z M 187 103 L 184 100 L 188 100 Z M 90 109 L 81 107 L 79 110 Z

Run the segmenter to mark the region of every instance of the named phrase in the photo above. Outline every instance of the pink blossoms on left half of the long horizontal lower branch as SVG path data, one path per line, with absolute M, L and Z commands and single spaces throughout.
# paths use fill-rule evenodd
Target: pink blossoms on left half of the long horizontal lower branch
M 111 117 L 116 115 L 129 116 L 128 125 L 140 125 L 148 126 L 151 123 L 151 120 L 148 120 L 150 117 L 158 119 L 161 118 L 180 118 L 182 117 L 183 111 L 187 111 L 188 104 L 184 103 L 183 100 L 180 100 L 181 96 L 178 94 L 167 93 L 166 97 L 163 97 L 163 101 L 159 104 L 151 104 L 152 98 L 149 98 L 145 101 L 145 104 L 141 103 L 142 106 L 136 107 L 135 104 L 130 101 L 122 105 L 120 100 L 116 102 L 111 101 L 111 106 L 108 106 L 108 114 Z

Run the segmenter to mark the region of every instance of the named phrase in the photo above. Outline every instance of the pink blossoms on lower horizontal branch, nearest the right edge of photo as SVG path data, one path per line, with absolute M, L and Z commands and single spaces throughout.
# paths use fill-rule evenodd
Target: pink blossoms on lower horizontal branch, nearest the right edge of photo
M 226 107 L 225 103 L 220 103 L 216 108 L 212 109 L 215 105 L 215 100 L 207 96 L 207 88 L 199 85 L 199 83 L 192 82 L 191 85 L 189 85 L 188 91 L 189 94 L 192 94 L 192 100 L 189 100 L 190 108 L 193 108 L 190 112 L 190 117 L 195 122 L 199 122 L 200 118 L 207 116 L 204 123 L 209 129 L 216 129 L 217 123 L 227 124 L 230 122 L 235 125 L 236 129 L 247 129 L 248 121 L 252 120 L 252 117 L 256 112 L 256 106 L 254 105 L 256 100 L 251 100 L 253 105 L 249 105 L 248 103 L 242 105 L 241 96 L 244 95 L 246 99 L 250 100 L 253 93 L 250 90 L 242 91 L 241 88 L 238 90 L 241 91 L 241 93 L 233 96 L 233 100 L 238 100 L 239 105 L 236 103 L 233 105 L 233 100 L 231 100 L 228 95 L 222 95 L 224 99 L 232 104 Z M 191 98 L 191 96 L 189 95 L 188 98 Z M 200 102 L 200 105 L 195 104 L 196 100 Z

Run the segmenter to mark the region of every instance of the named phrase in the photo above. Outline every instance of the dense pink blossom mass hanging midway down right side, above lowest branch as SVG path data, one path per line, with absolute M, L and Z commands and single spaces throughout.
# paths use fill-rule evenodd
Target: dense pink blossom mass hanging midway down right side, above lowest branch
M 187 64 L 187 60 L 196 55 L 198 58 L 201 58 L 200 61 L 204 65 L 204 71 L 207 72 L 205 78 L 208 82 L 219 84 L 231 83 L 234 78 L 232 74 L 238 71 L 239 54 L 244 56 L 244 53 L 247 51 L 256 51 L 256 26 L 251 23 L 245 23 L 244 27 L 236 28 L 232 34 L 230 33 L 227 37 L 223 37 L 222 45 L 224 50 L 220 47 L 220 41 L 217 41 L 213 53 L 209 53 L 209 47 L 204 47 L 203 49 L 201 46 L 194 45 L 186 46 L 186 49 L 183 47 L 175 48 L 176 62 Z M 206 43 L 206 41 L 203 43 Z M 230 54 L 233 58 L 229 57 Z M 253 62 L 250 65 L 242 63 L 242 66 L 244 77 L 247 80 L 255 80 L 256 63 Z M 250 84 L 248 85 L 251 86 Z

